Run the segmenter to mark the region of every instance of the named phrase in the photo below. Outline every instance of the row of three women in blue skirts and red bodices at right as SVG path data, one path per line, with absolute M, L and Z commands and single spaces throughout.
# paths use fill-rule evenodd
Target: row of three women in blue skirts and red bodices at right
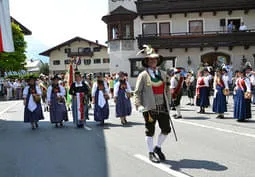
M 251 118 L 251 88 L 254 75 L 250 73 L 250 66 L 235 72 L 233 117 L 238 121 Z M 205 108 L 210 106 L 210 81 L 213 81 L 214 90 L 212 111 L 217 114 L 216 118 L 224 118 L 224 113 L 227 112 L 227 98 L 230 95 L 227 70 L 224 67 L 216 70 L 214 78 L 207 68 L 198 72 L 195 100 L 196 105 L 200 107 L 199 113 L 205 113 Z

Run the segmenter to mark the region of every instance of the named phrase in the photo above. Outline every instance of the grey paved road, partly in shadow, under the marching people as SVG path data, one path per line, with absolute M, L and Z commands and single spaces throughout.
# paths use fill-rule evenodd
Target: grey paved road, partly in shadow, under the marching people
M 163 146 L 168 160 L 155 165 L 147 160 L 141 114 L 134 110 L 122 127 L 112 101 L 110 108 L 104 128 L 90 120 L 86 129 L 71 122 L 56 129 L 45 113 L 40 128 L 32 131 L 22 122 L 21 101 L 0 102 L 0 177 L 255 176 L 254 120 L 238 123 L 232 113 L 215 119 L 211 108 L 201 115 L 183 106 L 184 118 L 174 120 L 179 140 L 170 135 Z

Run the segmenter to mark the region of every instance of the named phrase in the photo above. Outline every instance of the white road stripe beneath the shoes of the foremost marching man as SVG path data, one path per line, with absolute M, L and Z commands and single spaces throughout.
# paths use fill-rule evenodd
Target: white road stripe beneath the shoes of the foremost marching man
M 162 171 L 164 171 L 164 172 L 166 172 L 170 175 L 172 175 L 172 176 L 175 176 L 175 177 L 190 177 L 189 175 L 186 175 L 186 174 L 181 173 L 179 171 L 175 171 L 175 170 L 170 169 L 169 166 L 167 166 L 165 164 L 153 163 L 149 160 L 148 157 L 145 157 L 143 155 L 135 154 L 134 156 L 136 158 L 138 158 L 138 159 L 140 159 L 140 160 L 142 160 L 142 161 L 144 161 L 144 162 L 146 162 L 146 163 L 148 163 L 148 164 L 150 164 L 150 165 L 152 165 L 152 166 L 154 166 L 154 167 L 156 167 L 156 168 L 158 168 L 158 169 L 160 169 L 160 170 L 162 170 Z

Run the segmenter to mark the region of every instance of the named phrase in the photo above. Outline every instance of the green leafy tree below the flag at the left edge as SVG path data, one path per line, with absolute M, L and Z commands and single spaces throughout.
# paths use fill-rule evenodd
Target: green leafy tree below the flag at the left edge
M 24 34 L 19 25 L 12 23 L 12 35 L 14 43 L 14 52 L 2 52 L 0 53 L 0 71 L 19 71 L 24 68 L 26 60 L 26 41 L 24 40 Z

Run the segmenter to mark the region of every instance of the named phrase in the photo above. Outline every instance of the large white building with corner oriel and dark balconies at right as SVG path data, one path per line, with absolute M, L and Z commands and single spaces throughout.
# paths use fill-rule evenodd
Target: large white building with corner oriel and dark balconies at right
M 143 69 L 143 56 L 136 54 L 144 44 L 164 57 L 164 69 L 255 65 L 253 0 L 109 0 L 109 14 L 102 20 L 108 26 L 113 68 L 122 63 L 118 68 L 129 71 L 133 86 Z M 244 31 L 239 30 L 242 22 Z

